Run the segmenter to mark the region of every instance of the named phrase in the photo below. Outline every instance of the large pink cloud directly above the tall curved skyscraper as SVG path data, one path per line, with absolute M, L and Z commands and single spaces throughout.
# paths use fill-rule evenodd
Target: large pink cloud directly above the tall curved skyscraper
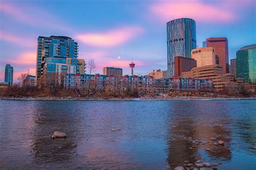
M 164 22 L 176 18 L 193 18 L 197 22 L 229 22 L 234 13 L 197 0 L 161 1 L 150 5 L 150 11 Z

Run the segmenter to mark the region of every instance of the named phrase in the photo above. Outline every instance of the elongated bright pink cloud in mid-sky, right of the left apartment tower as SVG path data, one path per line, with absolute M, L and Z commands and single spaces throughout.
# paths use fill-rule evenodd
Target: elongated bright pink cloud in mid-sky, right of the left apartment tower
M 113 47 L 124 44 L 143 31 L 144 30 L 138 26 L 126 26 L 103 33 L 94 32 L 78 34 L 75 38 L 91 46 Z

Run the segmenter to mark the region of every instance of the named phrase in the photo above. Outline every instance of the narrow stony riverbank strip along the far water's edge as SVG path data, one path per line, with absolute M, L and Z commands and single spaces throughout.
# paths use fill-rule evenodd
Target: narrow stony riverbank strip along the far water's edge
M 199 96 L 164 96 L 157 95 L 152 97 L 151 95 L 142 97 L 3 97 L 0 96 L 0 100 L 23 100 L 23 101 L 179 101 L 179 100 L 256 100 L 256 97 L 230 97 L 230 96 L 218 96 L 218 97 L 199 97 Z

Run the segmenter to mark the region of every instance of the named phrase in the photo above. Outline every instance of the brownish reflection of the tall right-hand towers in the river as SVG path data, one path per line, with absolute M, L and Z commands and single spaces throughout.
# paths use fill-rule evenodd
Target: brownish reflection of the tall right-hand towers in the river
M 185 160 L 194 163 L 203 159 L 201 150 L 213 158 L 231 159 L 229 145 L 215 146 L 211 140 L 231 141 L 230 118 L 226 112 L 215 109 L 219 102 L 177 102 L 171 106 L 167 158 L 171 167 L 181 166 Z

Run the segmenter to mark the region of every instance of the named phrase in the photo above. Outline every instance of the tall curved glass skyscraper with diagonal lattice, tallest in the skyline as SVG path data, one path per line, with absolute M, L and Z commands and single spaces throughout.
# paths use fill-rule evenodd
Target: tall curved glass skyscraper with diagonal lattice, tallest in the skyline
M 191 58 L 191 50 L 197 48 L 196 22 L 190 18 L 179 18 L 167 24 L 167 70 L 174 75 L 174 56 Z

